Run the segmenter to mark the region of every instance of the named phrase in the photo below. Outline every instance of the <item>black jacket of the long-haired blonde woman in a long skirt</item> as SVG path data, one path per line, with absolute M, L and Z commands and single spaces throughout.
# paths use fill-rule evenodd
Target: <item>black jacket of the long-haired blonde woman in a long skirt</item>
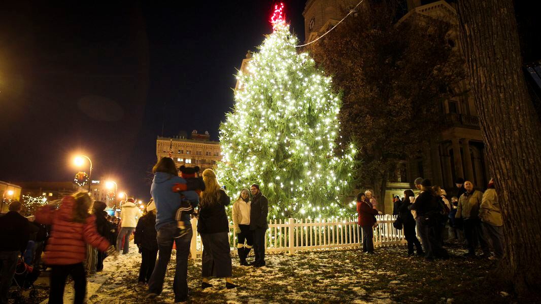
M 199 205 L 199 220 L 197 231 L 199 233 L 229 232 L 226 206 L 231 202 L 225 191 L 219 190 L 218 201 L 214 204 Z

